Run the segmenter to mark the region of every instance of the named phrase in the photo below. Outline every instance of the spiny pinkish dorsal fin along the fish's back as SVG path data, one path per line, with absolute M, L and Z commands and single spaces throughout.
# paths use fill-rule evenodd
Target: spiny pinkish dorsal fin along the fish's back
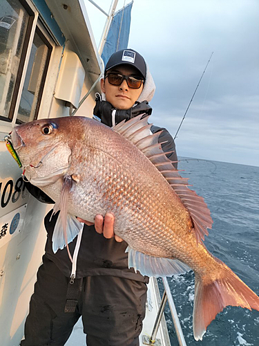
M 142 116 L 140 114 L 140 116 L 136 116 L 131 120 L 123 120 L 115 125 L 113 130 L 130 140 L 140 149 L 168 181 L 189 211 L 193 221 L 195 237 L 197 242 L 201 243 L 204 240 L 204 235 L 209 234 L 207 228 L 211 228 L 213 223 L 209 208 L 202 197 L 188 188 L 188 179 L 182 178 L 179 174 L 180 171 L 176 170 L 172 161 L 167 158 L 166 154 L 171 152 L 164 152 L 162 143 L 158 143 L 162 131 L 151 134 L 152 124 L 148 124 L 149 116 L 145 118 L 142 118 Z

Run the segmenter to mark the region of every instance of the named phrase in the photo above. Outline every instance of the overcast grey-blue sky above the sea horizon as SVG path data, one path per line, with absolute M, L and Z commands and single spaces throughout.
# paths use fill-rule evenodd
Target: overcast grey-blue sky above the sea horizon
M 95 2 L 108 12 L 111 1 Z M 86 8 L 98 46 L 106 17 Z M 259 166 L 259 0 L 135 0 L 128 47 L 155 80 L 151 121 L 173 137 L 213 52 L 178 155 Z

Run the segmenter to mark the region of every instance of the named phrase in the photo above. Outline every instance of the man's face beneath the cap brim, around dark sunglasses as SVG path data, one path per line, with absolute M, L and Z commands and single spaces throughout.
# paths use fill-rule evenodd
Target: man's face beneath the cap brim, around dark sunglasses
M 122 75 L 134 75 L 141 77 L 140 72 L 134 66 L 119 65 L 107 71 L 107 73 L 116 72 Z M 126 80 L 120 85 L 113 85 L 108 82 L 108 78 L 101 80 L 102 92 L 106 95 L 106 101 L 110 102 L 116 109 L 129 109 L 137 101 L 142 93 L 143 83 L 140 89 L 128 87 Z

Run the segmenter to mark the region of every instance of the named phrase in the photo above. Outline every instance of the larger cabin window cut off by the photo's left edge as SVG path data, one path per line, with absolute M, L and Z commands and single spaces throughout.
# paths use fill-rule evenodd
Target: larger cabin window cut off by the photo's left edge
M 17 84 L 30 15 L 18 0 L 0 1 L 0 119 L 12 121 L 10 108 Z

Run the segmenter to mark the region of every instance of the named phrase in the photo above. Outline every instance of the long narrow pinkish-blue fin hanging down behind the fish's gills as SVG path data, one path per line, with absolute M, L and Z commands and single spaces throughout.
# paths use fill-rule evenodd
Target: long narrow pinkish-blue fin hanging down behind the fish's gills
M 54 212 L 59 212 L 57 222 L 55 224 L 54 232 L 52 235 L 52 249 L 56 253 L 59 248 L 66 248 L 68 256 L 72 262 L 72 257 L 68 248 L 68 243 L 72 242 L 81 230 L 81 223 L 73 215 L 68 214 L 68 195 L 73 186 L 73 179 L 71 176 L 64 176 L 64 183 L 62 186 L 59 201 L 57 201 Z

